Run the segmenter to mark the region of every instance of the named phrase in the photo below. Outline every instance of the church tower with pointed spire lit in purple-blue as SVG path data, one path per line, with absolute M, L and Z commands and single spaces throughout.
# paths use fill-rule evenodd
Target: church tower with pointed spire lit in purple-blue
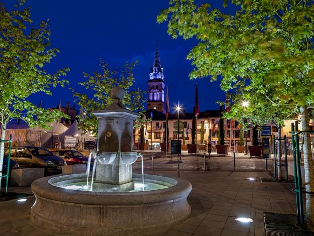
M 153 66 L 149 71 L 149 80 L 147 84 L 148 84 L 147 110 L 155 109 L 159 112 L 164 112 L 165 82 L 163 68 L 160 63 L 158 42 L 156 44 L 154 62 Z

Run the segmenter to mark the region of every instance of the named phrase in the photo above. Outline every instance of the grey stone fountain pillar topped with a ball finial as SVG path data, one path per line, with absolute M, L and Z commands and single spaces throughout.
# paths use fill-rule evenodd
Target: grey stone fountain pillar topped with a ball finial
M 124 185 L 132 182 L 132 164 L 138 155 L 132 152 L 133 121 L 139 114 L 128 110 L 121 100 L 124 90 L 111 91 L 113 103 L 104 110 L 94 111 L 98 118 L 96 182 Z

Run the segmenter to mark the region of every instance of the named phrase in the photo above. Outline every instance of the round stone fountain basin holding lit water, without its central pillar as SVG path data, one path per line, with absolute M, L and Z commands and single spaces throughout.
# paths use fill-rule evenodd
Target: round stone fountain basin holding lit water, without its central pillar
M 127 236 L 156 234 L 189 217 L 188 181 L 144 175 L 143 186 L 141 179 L 142 174 L 132 174 L 131 192 L 107 192 L 101 183 L 94 183 L 90 191 L 84 186 L 86 174 L 38 179 L 31 185 L 36 196 L 31 221 L 58 234 Z

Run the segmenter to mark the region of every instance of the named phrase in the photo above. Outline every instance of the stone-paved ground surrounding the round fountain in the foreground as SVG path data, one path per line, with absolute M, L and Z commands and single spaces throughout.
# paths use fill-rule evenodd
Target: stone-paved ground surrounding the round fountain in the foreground
M 134 172 L 140 169 L 134 168 Z M 270 177 L 269 172 L 240 171 L 167 171 L 145 170 L 147 174 L 182 177 L 191 182 L 188 197 L 190 217 L 170 230 L 154 236 L 264 236 L 264 211 L 295 213 L 291 183 L 261 183 L 247 178 Z M 1 236 L 57 236 L 34 226 L 30 207 L 34 196 L 26 202 L 0 203 Z M 135 216 L 136 217 L 136 216 Z M 235 217 L 249 217 L 253 223 L 243 224 Z

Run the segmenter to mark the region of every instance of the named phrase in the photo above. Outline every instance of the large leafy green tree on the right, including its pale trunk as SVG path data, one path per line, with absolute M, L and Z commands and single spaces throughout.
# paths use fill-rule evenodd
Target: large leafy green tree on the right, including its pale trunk
M 195 65 L 191 78 L 211 76 L 224 90 L 242 83 L 260 91 L 274 104 L 293 105 L 301 113 L 304 131 L 309 130 L 309 109 L 314 103 L 314 3 L 306 0 L 232 0 L 239 6 L 228 15 L 209 4 L 172 0 L 157 17 L 168 20 L 168 33 L 199 43 L 188 59 Z M 227 1 L 224 1 L 227 5 Z M 271 85 L 280 103 L 264 93 Z M 277 107 L 278 109 L 278 107 Z M 306 191 L 314 191 L 310 134 L 304 135 Z M 314 230 L 314 196 L 306 194 L 306 219 Z

